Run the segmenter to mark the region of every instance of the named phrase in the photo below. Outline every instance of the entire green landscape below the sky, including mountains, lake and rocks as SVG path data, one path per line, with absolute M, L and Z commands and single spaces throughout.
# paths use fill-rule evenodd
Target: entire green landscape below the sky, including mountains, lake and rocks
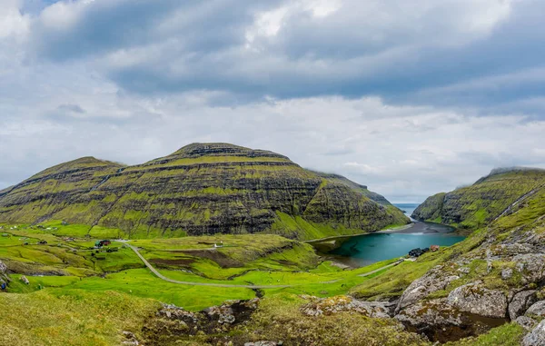
M 64 163 L 0 195 L 0 344 L 539 345 L 544 183 L 492 172 L 411 223 L 231 144 Z

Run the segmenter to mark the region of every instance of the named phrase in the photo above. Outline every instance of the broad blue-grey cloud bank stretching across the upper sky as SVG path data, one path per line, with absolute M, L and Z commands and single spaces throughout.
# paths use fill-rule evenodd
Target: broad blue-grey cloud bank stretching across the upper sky
M 397 104 L 490 107 L 543 92 L 540 81 L 518 90 L 507 84 L 485 85 L 477 93 L 435 91 L 541 64 L 540 2 L 344 0 L 322 17 L 312 15 L 307 3 L 60 3 L 74 19 L 52 28 L 51 6 L 35 21 L 31 42 L 57 61 L 91 58 L 133 93 L 234 95 L 220 104 L 376 94 Z M 254 28 L 256 15 L 282 8 L 275 35 Z M 515 58 L 513 52 L 528 54 Z

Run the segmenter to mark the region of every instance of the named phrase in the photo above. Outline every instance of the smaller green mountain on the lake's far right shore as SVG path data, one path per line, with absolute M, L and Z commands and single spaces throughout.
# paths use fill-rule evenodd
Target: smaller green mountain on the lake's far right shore
M 476 229 L 510 213 L 514 204 L 523 203 L 544 187 L 545 170 L 499 168 L 471 186 L 429 197 L 411 216 L 421 221 Z

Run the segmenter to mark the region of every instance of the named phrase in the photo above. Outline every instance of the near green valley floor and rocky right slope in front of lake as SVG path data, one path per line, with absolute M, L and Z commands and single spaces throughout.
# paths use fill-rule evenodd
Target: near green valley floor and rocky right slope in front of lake
M 130 241 L 165 281 L 126 242 L 3 225 L 0 343 L 540 346 L 545 188 L 531 191 L 463 242 L 348 270 L 274 234 Z

